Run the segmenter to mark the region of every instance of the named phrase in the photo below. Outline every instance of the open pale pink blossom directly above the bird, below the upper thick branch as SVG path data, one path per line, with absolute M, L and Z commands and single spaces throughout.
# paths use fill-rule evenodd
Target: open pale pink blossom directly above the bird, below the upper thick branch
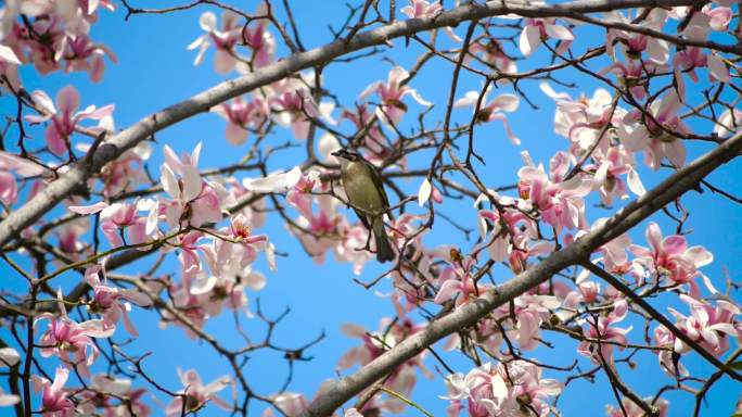
M 433 105 L 431 102 L 425 101 L 415 89 L 402 85 L 402 81 L 407 80 L 409 76 L 410 73 L 407 70 L 401 66 L 395 66 L 389 71 L 386 83 L 372 83 L 366 87 L 359 97 L 364 99 L 374 92 L 378 93 L 381 99 L 381 105 L 376 108 L 376 116 L 380 121 L 398 125 L 405 113 L 407 113 L 407 104 L 402 102 L 405 97 L 410 96 L 414 101 L 424 106 Z

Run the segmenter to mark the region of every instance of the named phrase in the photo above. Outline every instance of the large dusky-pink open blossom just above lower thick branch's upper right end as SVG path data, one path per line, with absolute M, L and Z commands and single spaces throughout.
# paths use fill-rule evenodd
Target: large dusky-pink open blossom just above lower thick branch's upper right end
M 652 102 L 648 115 L 629 112 L 618 126 L 621 142 L 630 152 L 644 152 L 644 163 L 652 169 L 658 169 L 665 156 L 675 166 L 683 166 L 686 146 L 675 135 L 691 130 L 678 115 L 681 108 L 680 97 L 673 90 Z

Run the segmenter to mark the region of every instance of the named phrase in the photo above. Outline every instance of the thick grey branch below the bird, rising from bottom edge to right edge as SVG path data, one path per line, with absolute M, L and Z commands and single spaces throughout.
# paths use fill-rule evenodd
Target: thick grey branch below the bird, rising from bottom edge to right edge
M 573 244 L 552 253 L 543 262 L 529 267 L 515 278 L 483 294 L 479 299 L 428 324 L 425 330 L 404 340 L 356 374 L 335 382 L 318 396 L 305 417 L 329 416 L 364 387 L 420 354 L 440 339 L 473 326 L 495 308 L 551 278 L 560 270 L 577 265 L 601 245 L 636 226 L 665 204 L 693 189 L 712 170 L 737 156 L 742 150 L 742 131 L 724 141 L 713 151 L 678 169 L 654 189 L 638 198 L 600 227 L 577 239 Z

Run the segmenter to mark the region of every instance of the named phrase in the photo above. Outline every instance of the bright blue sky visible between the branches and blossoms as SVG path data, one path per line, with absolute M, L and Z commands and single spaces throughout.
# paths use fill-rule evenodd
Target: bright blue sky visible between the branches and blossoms
M 244 7 L 245 2 L 241 2 Z M 251 5 L 245 10 L 254 9 L 255 1 L 248 2 Z M 346 15 L 345 1 L 324 1 L 295 2 L 294 14 L 297 17 L 299 31 L 304 45 L 316 47 L 325 43 L 331 39 L 331 34 L 327 29 L 328 25 L 337 26 Z M 399 2 L 404 3 L 404 2 Z M 321 4 L 321 7 L 319 7 Z M 65 75 L 55 73 L 48 77 L 38 77 L 29 68 L 23 72 L 23 80 L 28 90 L 42 89 L 53 94 L 67 85 L 76 86 L 82 97 L 82 104 L 104 105 L 116 104 L 115 119 L 118 127 L 126 127 L 136 123 L 144 115 L 169 104 L 189 98 L 195 92 L 202 91 L 227 77 L 217 75 L 212 68 L 213 51 L 207 52 L 205 63 L 200 67 L 194 67 L 192 62 L 194 52 L 187 51 L 186 47 L 202 31 L 199 28 L 199 15 L 207 8 L 196 8 L 194 10 L 174 13 L 165 16 L 135 15 L 128 22 L 124 21 L 121 10 L 115 14 L 101 13 L 100 23 L 93 26 L 92 37 L 111 47 L 116 53 L 119 63 L 106 63 L 106 73 L 103 83 L 92 85 L 85 74 Z M 383 9 L 384 10 L 384 9 Z M 398 16 L 400 18 L 401 15 Z M 458 33 L 463 34 L 464 27 L 459 27 Z M 579 29 L 580 37 L 575 46 L 577 50 L 584 50 L 585 41 L 599 42 L 603 36 L 598 30 Z M 423 35 L 424 38 L 427 35 Z M 584 40 L 585 39 L 585 40 Z M 596 43 L 590 43 L 591 46 Z M 280 54 L 285 54 L 281 50 Z M 388 62 L 382 61 L 383 56 L 391 58 L 396 63 L 409 67 L 421 53 L 421 49 L 413 47 L 405 48 L 404 40 L 395 42 L 395 48 L 387 52 L 367 58 L 362 61 L 349 64 L 333 64 L 328 66 L 324 73 L 325 86 L 337 93 L 345 105 L 353 105 L 357 100 L 357 94 L 366 86 L 376 79 L 385 79 L 386 73 L 391 68 Z M 527 70 L 534 65 L 543 63 L 543 55 L 536 55 L 535 60 L 519 63 L 520 70 Z M 432 115 L 440 119 L 445 111 L 445 103 L 449 92 L 451 65 L 442 61 L 435 62 L 422 71 L 412 83 L 420 93 L 436 103 Z M 574 81 L 577 88 L 570 90 L 573 97 L 585 92 L 591 96 L 594 88 L 599 87 L 592 80 L 588 80 L 574 72 L 565 72 L 560 75 L 561 79 Z M 705 73 L 702 76 L 705 79 Z M 468 76 L 462 78 L 459 85 L 458 96 L 472 89 L 479 89 L 481 80 Z M 510 123 L 517 136 L 522 139 L 521 147 L 514 147 L 504 137 L 501 127 L 497 124 L 492 126 L 478 127 L 476 144 L 479 153 L 487 161 L 486 166 L 478 166 L 483 178 L 490 187 L 498 187 L 513 184 L 517 177 L 516 172 L 522 166 L 520 152 L 527 150 L 536 162 L 548 164 L 549 157 L 554 152 L 566 148 L 566 140 L 553 132 L 553 102 L 543 96 L 534 81 L 526 81 L 522 85 L 528 97 L 539 109 L 530 109 L 522 102 L 516 113 L 509 115 Z M 563 87 L 554 86 L 558 91 L 565 90 Z M 691 91 L 698 88 L 691 87 Z M 512 88 L 503 86 L 501 91 L 511 92 Z M 7 114 L 13 111 L 14 102 L 8 98 L 0 99 L 0 112 Z M 421 111 L 422 108 L 410 101 L 410 115 Z M 337 115 L 337 113 L 335 114 Z M 411 116 L 410 119 L 414 117 Z M 466 123 L 470 113 L 460 110 L 455 113 L 455 119 Z M 433 119 L 433 118 L 428 118 Z M 410 124 L 409 127 L 413 125 Z M 349 125 L 343 126 L 346 130 Z M 694 126 L 701 132 L 707 132 L 708 127 L 703 125 Z M 158 143 L 168 143 L 177 152 L 189 151 L 199 142 L 204 142 L 202 152 L 201 167 L 216 167 L 226 163 L 239 161 L 247 151 L 250 142 L 242 147 L 233 147 L 223 138 L 225 124 L 221 118 L 214 114 L 203 114 L 189 121 L 172 126 L 157 135 Z M 704 130 L 705 129 L 705 130 Z M 41 131 L 36 132 L 38 143 L 41 142 Z M 291 138 L 290 131 L 280 131 L 269 143 L 281 143 Z M 162 161 L 161 148 L 156 151 L 151 161 L 153 172 L 158 170 Z M 693 144 L 690 148 L 691 155 L 699 155 L 707 146 Z M 272 160 L 271 169 L 289 168 L 299 161 L 298 153 L 286 152 L 285 155 Z M 419 161 L 413 161 L 419 162 Z M 742 170 L 739 162 L 732 162 L 709 177 L 709 181 L 715 186 L 732 193 L 742 190 Z M 642 167 L 642 179 L 649 188 L 656 184 L 667 172 L 657 174 L 650 173 Z M 414 192 L 418 187 L 417 181 L 402 184 L 408 192 Z M 688 227 L 693 230 L 689 237 L 691 244 L 703 244 L 715 255 L 714 264 L 704 268 L 706 275 L 712 277 L 715 283 L 724 283 L 724 269 L 729 271 L 733 280 L 739 280 L 742 275 L 742 258 L 739 256 L 738 244 L 742 241 L 742 216 L 739 208 L 728 200 L 709 192 L 703 194 L 690 192 L 682 199 L 686 208 L 691 213 Z M 443 212 L 449 216 L 460 219 L 468 227 L 474 226 L 474 211 L 463 203 L 453 203 L 445 206 Z M 588 216 L 591 220 L 598 217 L 607 216 L 611 211 L 598 207 L 589 207 Z M 353 216 L 353 215 L 351 215 Z M 673 223 L 666 216 L 655 215 L 652 220 L 663 226 L 666 235 L 670 233 Z M 635 242 L 645 245 L 643 229 L 647 223 L 636 228 L 630 235 Z M 357 344 L 356 340 L 349 339 L 340 332 L 340 326 L 344 323 L 357 323 L 367 329 L 375 330 L 379 319 L 383 316 L 394 314 L 387 299 L 380 298 L 374 291 L 367 291 L 353 281 L 353 273 L 349 265 L 336 265 L 332 262 L 324 265 L 316 265 L 302 251 L 297 241 L 285 231 L 280 218 L 272 216 L 268 225 L 261 230 L 271 237 L 277 248 L 290 254 L 289 257 L 279 258 L 279 271 L 271 274 L 267 270 L 264 262 L 258 262 L 256 269 L 261 270 L 268 277 L 267 288 L 259 292 L 250 292 L 251 306 L 254 308 L 256 298 L 259 298 L 264 311 L 269 316 L 280 314 L 286 306 L 291 307 L 290 315 L 284 323 L 277 328 L 276 341 L 286 348 L 297 346 L 305 341 L 312 340 L 321 331 L 327 333 L 327 338 L 318 346 L 309 350 L 306 354 L 312 356 L 310 362 L 295 364 L 294 379 L 290 386 L 290 391 L 303 392 L 311 399 L 315 391 L 327 378 L 336 376 L 336 362 L 338 357 L 348 349 Z M 466 242 L 460 235 L 452 235 L 455 231 L 444 222 L 437 222 L 434 232 L 426 238 L 428 245 L 439 243 L 456 243 L 466 250 L 473 242 Z M 456 241 L 451 242 L 450 237 L 456 236 Z M 144 265 L 149 265 L 146 262 Z M 4 267 L 3 267 L 4 268 Z M 136 273 L 141 270 L 141 265 L 128 268 L 128 271 Z M 178 265 L 169 262 L 163 269 L 164 271 L 176 273 Z M 382 271 L 379 265 L 370 263 L 367 265 L 361 279 L 370 279 Z M 504 274 L 504 269 L 498 269 L 496 281 L 504 281 L 510 275 Z M 5 271 L 3 269 L 3 271 Z M 60 285 L 67 286 L 76 282 L 77 277 L 67 276 L 69 281 Z M 13 287 L 17 283 L 17 277 L 13 278 Z M 388 283 L 383 283 L 379 291 L 388 290 Z M 685 306 L 680 306 L 681 312 L 687 312 Z M 148 372 L 156 380 L 161 381 L 170 389 L 180 389 L 177 379 L 176 368 L 196 368 L 205 381 L 215 379 L 228 372 L 227 363 L 215 355 L 212 350 L 204 344 L 190 341 L 184 333 L 177 328 L 162 330 L 158 328 L 154 315 L 150 312 L 135 312 L 138 320 L 138 328 L 141 337 L 136 341 L 128 352 L 132 354 L 143 354 L 153 352 L 152 356 L 144 363 Z M 413 319 L 422 318 L 415 313 L 411 314 Z M 149 319 L 148 319 L 149 318 Z M 246 331 L 251 336 L 259 338 L 264 327 L 259 321 L 253 319 L 245 321 Z M 216 334 L 218 339 L 228 346 L 239 345 L 240 339 L 233 333 L 232 317 L 225 314 L 222 317 L 213 319 L 206 326 L 206 330 Z M 635 328 L 634 337 L 638 337 L 640 328 Z M 3 337 L 5 334 L 3 333 Z M 125 336 L 119 332 L 118 340 Z M 549 337 L 555 348 L 547 351 L 540 349 L 534 352 L 535 357 L 553 358 L 556 365 L 567 365 L 575 358 L 575 346 L 573 341 Z M 439 349 L 438 349 L 439 350 Z M 548 355 L 548 356 L 545 356 Z M 258 353 L 251 357 L 245 366 L 245 375 L 248 382 L 258 392 L 270 394 L 278 390 L 286 376 L 285 362 L 281 355 L 276 353 Z M 699 375 L 707 375 L 711 368 L 705 363 L 694 358 L 693 355 L 683 358 L 686 364 Z M 455 356 L 447 357 L 447 362 L 457 370 L 466 372 L 470 365 Z M 427 365 L 434 367 L 435 363 L 428 358 Z M 580 358 L 580 365 L 588 367 L 586 359 Z M 645 355 L 638 361 L 638 367 L 630 370 L 623 366 L 619 368 L 622 376 L 641 395 L 653 393 L 652 388 L 670 383 L 671 380 L 664 376 L 656 365 L 656 358 Z M 51 367 L 50 367 L 51 368 Z M 144 382 L 141 382 L 144 384 Z M 717 416 L 728 415 L 733 408 L 733 404 L 740 395 L 740 386 L 731 383 L 728 379 L 719 382 L 708 395 L 708 408 L 704 415 Z M 426 381 L 421 378 L 418 389 L 413 393 L 413 400 L 422 404 L 434 415 L 443 415 L 447 403 L 439 400 L 437 395 L 445 394 L 443 381 L 438 378 L 434 381 Z M 689 413 L 692 407 L 692 397 L 688 394 L 668 395 L 670 400 L 670 415 L 682 416 Z M 161 401 L 167 401 L 159 396 Z M 579 381 L 571 386 L 567 393 L 560 400 L 560 410 L 564 416 L 573 415 L 602 415 L 605 404 L 613 404 L 614 400 L 604 377 L 598 377 L 593 384 Z M 261 413 L 265 406 L 255 403 L 251 410 L 255 414 Z M 409 409 L 405 415 L 418 415 L 418 412 Z M 200 415 L 210 416 L 220 415 L 220 412 L 209 406 Z

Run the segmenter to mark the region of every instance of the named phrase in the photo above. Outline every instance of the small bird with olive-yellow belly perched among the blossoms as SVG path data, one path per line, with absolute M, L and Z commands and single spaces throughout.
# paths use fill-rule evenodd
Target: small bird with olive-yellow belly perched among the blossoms
M 389 200 L 379 169 L 356 152 L 341 149 L 332 153 L 341 163 L 341 178 L 345 194 L 363 226 L 376 241 L 376 261 L 394 261 L 395 253 L 384 229 L 384 214 L 389 212 Z

